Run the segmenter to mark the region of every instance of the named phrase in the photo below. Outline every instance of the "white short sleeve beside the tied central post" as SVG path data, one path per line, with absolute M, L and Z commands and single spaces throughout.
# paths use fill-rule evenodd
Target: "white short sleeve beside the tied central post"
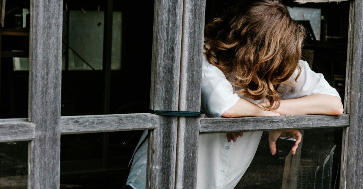
M 232 84 L 222 71 L 210 64 L 203 56 L 201 81 L 201 109 L 207 110 L 207 117 L 221 117 L 240 99 L 233 92 Z

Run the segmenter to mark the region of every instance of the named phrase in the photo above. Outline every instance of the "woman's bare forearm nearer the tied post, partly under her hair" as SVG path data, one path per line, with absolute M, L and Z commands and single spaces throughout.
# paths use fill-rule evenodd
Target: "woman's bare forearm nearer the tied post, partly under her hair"
M 222 114 L 222 117 L 280 116 L 277 112 L 262 110 L 258 105 L 240 98 L 235 105 Z

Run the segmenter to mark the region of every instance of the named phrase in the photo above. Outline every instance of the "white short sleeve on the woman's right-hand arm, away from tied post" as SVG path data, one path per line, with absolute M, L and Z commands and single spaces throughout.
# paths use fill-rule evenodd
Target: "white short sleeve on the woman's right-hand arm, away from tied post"
M 309 64 L 303 60 L 299 61 L 301 67 L 301 74 L 295 82 L 295 78 L 298 74 L 298 70 L 295 70 L 294 74 L 290 77 L 291 82 L 295 85 L 295 90 L 292 92 L 285 92 L 281 95 L 282 99 L 293 99 L 309 96 L 315 93 L 331 95 L 338 97 L 337 90 L 329 85 L 324 79 L 323 74 L 318 74 L 312 71 Z

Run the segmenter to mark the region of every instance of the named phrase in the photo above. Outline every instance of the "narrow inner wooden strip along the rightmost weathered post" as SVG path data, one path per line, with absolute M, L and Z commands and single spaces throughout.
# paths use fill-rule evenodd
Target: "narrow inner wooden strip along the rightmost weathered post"
M 348 26 L 348 49 L 347 49 L 347 67 L 345 79 L 345 95 L 344 95 L 344 113 L 350 113 L 350 96 L 351 96 L 351 78 L 353 63 L 353 44 L 354 44 L 354 19 L 355 19 L 355 1 L 350 2 L 349 9 L 349 26 Z M 340 182 L 339 188 L 346 188 L 347 180 L 347 162 L 348 162 L 348 138 L 349 127 L 343 130 L 342 138 L 342 156 L 340 160 Z

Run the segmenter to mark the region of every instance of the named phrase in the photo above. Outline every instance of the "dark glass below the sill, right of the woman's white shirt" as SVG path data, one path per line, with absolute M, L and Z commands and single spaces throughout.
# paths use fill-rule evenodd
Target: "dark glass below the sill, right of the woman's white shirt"
M 256 155 L 236 188 L 286 188 L 293 177 L 297 179 L 293 182 L 297 189 L 339 188 L 342 131 L 342 128 L 306 129 L 301 154 L 292 158 L 291 154 L 286 158 L 272 156 L 268 133 L 264 132 Z

